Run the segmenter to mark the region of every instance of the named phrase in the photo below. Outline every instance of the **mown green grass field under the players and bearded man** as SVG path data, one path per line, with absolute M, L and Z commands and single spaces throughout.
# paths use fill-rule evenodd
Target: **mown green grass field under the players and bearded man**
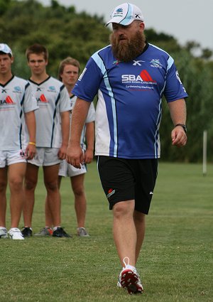
M 116 288 L 119 260 L 111 235 L 111 212 L 96 164 L 86 177 L 87 229 L 79 238 L 70 180 L 62 180 L 62 226 L 70 239 L 0 240 L 1 302 L 213 301 L 213 165 L 160 163 L 137 269 L 145 288 L 129 296 Z M 36 190 L 33 232 L 44 226 L 42 172 Z M 9 208 L 9 203 L 8 203 Z M 7 214 L 9 227 L 9 211 Z M 23 226 L 21 220 L 20 227 Z

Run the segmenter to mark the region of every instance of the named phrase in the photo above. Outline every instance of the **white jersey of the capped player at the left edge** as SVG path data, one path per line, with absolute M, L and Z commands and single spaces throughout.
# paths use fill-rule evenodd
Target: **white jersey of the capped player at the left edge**
M 31 85 L 13 76 L 0 84 L 0 151 L 25 149 L 28 129 L 25 113 L 38 109 Z

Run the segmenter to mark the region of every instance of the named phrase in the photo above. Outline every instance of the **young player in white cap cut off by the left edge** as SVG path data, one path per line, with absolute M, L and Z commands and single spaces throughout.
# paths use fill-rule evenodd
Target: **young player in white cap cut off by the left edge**
M 35 114 L 38 109 L 28 81 L 11 72 L 13 54 L 0 44 L 0 238 L 24 239 L 18 229 L 23 206 L 26 161 L 35 156 Z M 6 186 L 9 182 L 11 229 L 6 230 Z

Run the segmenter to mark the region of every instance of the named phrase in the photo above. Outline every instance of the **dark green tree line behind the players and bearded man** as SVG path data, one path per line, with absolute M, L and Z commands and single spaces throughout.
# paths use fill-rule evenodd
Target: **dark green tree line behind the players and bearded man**
M 75 6 L 65 7 L 52 0 L 43 6 L 36 0 L 0 0 L 0 37 L 13 50 L 14 74 L 28 78 L 30 73 L 25 51 L 29 45 L 41 43 L 50 54 L 48 73 L 58 76 L 61 60 L 71 56 L 80 61 L 83 70 L 90 55 L 109 44 L 109 28 L 104 27 L 103 16 L 77 13 Z M 213 161 L 213 61 L 212 50 L 202 49 L 195 41 L 185 45 L 170 35 L 146 29 L 146 38 L 170 53 L 175 59 L 180 78 L 187 90 L 187 146 L 171 146 L 173 123 L 168 105 L 163 102 L 160 126 L 161 158 L 163 161 L 202 161 L 202 134 L 208 131 L 208 161 Z M 200 55 L 195 56 L 195 50 Z

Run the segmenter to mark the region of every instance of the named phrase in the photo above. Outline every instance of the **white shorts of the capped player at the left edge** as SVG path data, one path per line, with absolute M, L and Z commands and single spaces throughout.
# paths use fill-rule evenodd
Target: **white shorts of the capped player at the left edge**
M 0 168 L 5 168 L 13 163 L 26 163 L 23 150 L 0 151 Z

